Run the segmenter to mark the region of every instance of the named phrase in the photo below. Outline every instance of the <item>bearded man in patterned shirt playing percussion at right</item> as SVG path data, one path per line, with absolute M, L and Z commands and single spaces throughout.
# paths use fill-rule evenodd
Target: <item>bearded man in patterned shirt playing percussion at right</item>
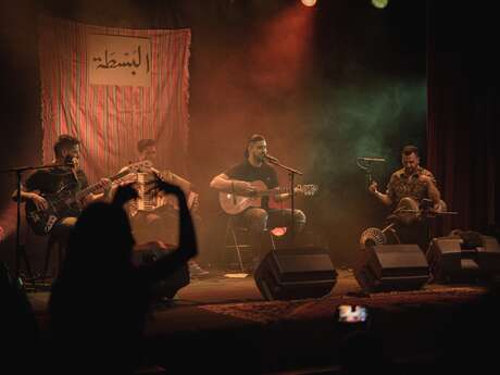
M 424 215 L 398 214 L 398 205 L 410 202 L 403 208 L 408 209 L 411 202 L 414 202 L 413 209 L 424 211 L 424 214 L 425 211 L 439 212 L 442 209 L 441 195 L 436 187 L 434 175 L 420 166 L 418 149 L 415 146 L 405 146 L 402 149 L 401 163 L 403 167 L 392 173 L 385 193 L 378 191 L 376 182 L 373 182 L 368 189 L 380 202 L 395 209 L 393 217 L 399 224 L 397 232 L 401 242 L 417 243 L 426 251 L 429 238 Z

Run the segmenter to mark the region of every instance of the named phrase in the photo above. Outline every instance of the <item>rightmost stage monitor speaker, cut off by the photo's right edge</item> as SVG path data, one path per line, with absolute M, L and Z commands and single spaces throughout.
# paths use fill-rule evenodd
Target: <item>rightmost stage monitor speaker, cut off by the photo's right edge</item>
M 438 283 L 471 283 L 500 277 L 500 245 L 473 232 L 434 238 L 426 253 Z

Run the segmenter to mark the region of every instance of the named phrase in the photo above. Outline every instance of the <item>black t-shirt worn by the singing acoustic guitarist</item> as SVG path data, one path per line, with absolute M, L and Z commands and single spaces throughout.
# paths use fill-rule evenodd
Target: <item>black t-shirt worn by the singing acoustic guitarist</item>
M 273 189 L 278 186 L 278 176 L 271 165 L 262 163 L 261 166 L 253 166 L 247 159 L 242 163 L 234 165 L 224 172 L 224 174 L 230 179 L 239 179 L 249 183 L 261 180 L 267 186 L 267 189 Z M 263 197 L 262 208 L 268 208 L 267 197 Z

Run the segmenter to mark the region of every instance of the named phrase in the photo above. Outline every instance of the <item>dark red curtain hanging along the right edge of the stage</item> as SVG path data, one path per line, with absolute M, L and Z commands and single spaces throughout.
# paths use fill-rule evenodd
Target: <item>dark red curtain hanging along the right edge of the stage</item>
M 437 234 L 495 232 L 500 223 L 497 13 L 486 3 L 427 4 L 427 158 L 449 210 L 459 212 L 438 221 Z

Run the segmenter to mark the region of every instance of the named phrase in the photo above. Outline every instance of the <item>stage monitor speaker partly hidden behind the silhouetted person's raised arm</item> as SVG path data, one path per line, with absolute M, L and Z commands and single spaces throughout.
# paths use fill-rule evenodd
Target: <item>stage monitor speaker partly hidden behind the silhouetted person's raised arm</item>
M 167 254 L 167 251 L 161 250 L 140 250 L 133 252 L 133 263 L 135 265 L 151 264 L 160 258 Z M 183 264 L 179 268 L 167 275 L 164 279 L 155 283 L 152 288 L 154 299 L 174 298 L 180 288 L 189 285 L 190 276 L 187 264 Z

